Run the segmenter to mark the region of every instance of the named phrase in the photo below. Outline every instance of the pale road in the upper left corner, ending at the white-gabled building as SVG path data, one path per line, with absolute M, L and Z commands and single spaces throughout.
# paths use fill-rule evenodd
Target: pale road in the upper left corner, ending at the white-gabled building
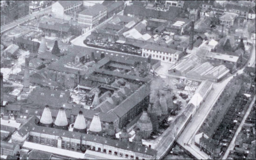
M 37 16 L 47 14 L 47 13 L 50 13 L 50 12 L 51 12 L 51 6 L 48 6 L 44 9 L 42 9 L 41 11 L 33 12 L 32 14 L 29 14 L 26 17 L 20 18 L 20 19 L 14 21 L 14 22 L 11 22 L 7 25 L 1 26 L 1 29 L 0 29 L 1 32 L 0 33 L 4 32 L 4 31 L 7 31 L 8 29 L 11 29 L 11 28 L 17 26 L 18 24 L 26 22 L 27 20 L 34 19 Z

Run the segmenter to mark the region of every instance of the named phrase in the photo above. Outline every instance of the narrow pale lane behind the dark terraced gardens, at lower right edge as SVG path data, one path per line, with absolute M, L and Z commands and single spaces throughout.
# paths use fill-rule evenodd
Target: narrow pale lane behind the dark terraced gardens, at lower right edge
M 234 135 L 232 141 L 230 142 L 230 144 L 229 144 L 229 146 L 228 146 L 228 148 L 227 148 L 227 150 L 226 150 L 224 156 L 222 157 L 222 159 L 226 159 L 226 158 L 228 157 L 230 151 L 235 148 L 235 139 L 236 139 L 237 135 L 239 134 L 239 132 L 241 131 L 241 129 L 242 129 L 243 125 L 244 125 L 245 120 L 247 119 L 247 117 L 249 116 L 249 114 L 250 114 L 250 112 L 251 112 L 251 110 L 252 110 L 252 107 L 253 107 L 253 104 L 254 104 L 255 98 L 256 98 L 255 96 L 256 96 L 256 95 L 254 95 L 254 99 L 253 99 L 253 101 L 251 102 L 249 108 L 247 109 L 247 111 L 246 111 L 246 113 L 245 113 L 245 115 L 244 115 L 244 118 L 243 118 L 242 122 L 240 123 L 239 127 L 237 128 L 237 130 L 236 130 L 236 132 L 235 132 L 235 135 Z

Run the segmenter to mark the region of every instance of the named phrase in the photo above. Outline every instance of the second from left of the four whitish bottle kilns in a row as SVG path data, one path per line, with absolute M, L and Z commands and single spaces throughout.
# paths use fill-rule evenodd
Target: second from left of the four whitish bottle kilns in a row
M 54 124 L 55 124 L 54 126 L 55 128 L 65 129 L 65 130 L 69 129 L 69 123 L 63 107 L 59 109 L 59 112 L 57 114 Z

